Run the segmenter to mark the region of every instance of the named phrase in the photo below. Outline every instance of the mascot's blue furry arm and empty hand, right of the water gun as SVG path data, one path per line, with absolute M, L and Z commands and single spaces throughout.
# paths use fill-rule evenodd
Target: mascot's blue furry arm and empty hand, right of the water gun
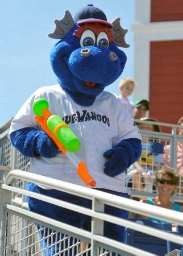
M 141 152 L 140 139 L 120 141 L 114 148 L 103 153 L 103 156 L 108 159 L 105 163 L 104 173 L 111 177 L 122 174 L 140 158 Z

